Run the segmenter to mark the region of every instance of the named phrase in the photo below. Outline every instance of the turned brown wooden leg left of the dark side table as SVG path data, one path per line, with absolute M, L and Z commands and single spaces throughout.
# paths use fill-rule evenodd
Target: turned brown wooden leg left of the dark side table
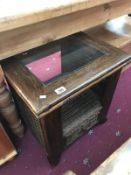
M 3 76 L 0 77 L 0 113 L 9 124 L 12 132 L 16 136 L 22 137 L 24 135 L 24 127 L 18 117 L 11 94 L 6 88 Z

